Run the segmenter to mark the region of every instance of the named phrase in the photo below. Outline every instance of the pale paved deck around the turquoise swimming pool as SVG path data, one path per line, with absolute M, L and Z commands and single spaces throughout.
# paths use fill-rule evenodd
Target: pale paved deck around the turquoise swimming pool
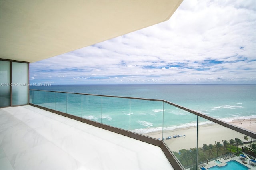
M 252 164 L 249 164 L 249 160 L 250 160 L 250 159 L 245 160 L 245 162 L 247 162 L 247 164 L 244 164 L 244 163 L 242 162 L 243 160 L 240 158 L 240 156 L 235 156 L 235 157 L 233 157 L 233 158 L 228 158 L 228 159 L 226 159 L 226 160 L 222 157 L 222 158 L 219 158 L 219 159 L 217 159 L 217 160 L 219 160 L 220 162 L 222 162 L 222 164 L 218 164 L 218 163 L 214 162 L 215 160 L 213 160 L 213 161 L 208 162 L 208 164 L 205 163 L 206 166 L 204 166 L 204 168 L 208 169 L 208 168 L 211 168 L 211 167 L 216 166 L 216 165 L 221 167 L 221 166 L 225 166 L 225 165 L 226 165 L 226 162 L 228 162 L 228 161 L 230 161 L 230 160 L 236 160 L 237 162 L 243 164 L 244 166 L 247 166 L 248 168 L 250 168 L 250 169 L 252 169 L 252 170 L 256 170 L 256 166 L 254 166 L 254 165 L 252 165 Z

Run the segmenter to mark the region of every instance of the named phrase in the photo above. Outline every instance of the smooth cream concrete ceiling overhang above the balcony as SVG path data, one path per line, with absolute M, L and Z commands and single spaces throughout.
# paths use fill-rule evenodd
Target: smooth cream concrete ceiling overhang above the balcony
M 182 0 L 1 0 L 1 58 L 35 62 L 166 21 Z

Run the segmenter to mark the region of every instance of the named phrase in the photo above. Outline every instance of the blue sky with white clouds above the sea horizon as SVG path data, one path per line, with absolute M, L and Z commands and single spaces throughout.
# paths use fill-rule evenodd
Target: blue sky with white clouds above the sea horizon
M 256 84 L 256 1 L 184 0 L 166 22 L 30 63 L 30 83 Z

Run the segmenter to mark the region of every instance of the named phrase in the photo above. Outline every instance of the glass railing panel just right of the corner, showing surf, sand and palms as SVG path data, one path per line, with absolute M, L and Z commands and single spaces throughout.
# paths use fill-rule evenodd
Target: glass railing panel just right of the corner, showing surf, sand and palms
M 164 103 L 164 143 L 186 169 L 196 165 L 197 116 Z

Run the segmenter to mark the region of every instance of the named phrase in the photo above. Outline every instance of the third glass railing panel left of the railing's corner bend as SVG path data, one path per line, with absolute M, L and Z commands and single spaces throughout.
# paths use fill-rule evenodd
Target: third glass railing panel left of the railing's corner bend
M 101 123 L 101 96 L 82 95 L 82 118 Z

